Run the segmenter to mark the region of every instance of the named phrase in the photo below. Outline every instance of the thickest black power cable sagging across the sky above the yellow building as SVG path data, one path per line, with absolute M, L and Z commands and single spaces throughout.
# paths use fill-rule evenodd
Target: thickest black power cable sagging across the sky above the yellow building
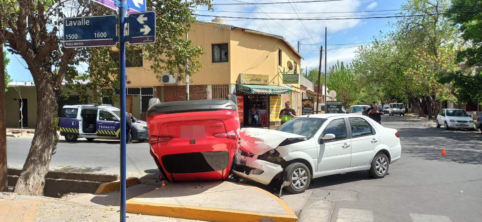
M 333 16 L 332 18 L 319 18 L 319 17 L 309 17 L 309 18 L 250 18 L 250 17 L 234 17 L 234 16 L 221 16 L 221 15 L 201 15 L 192 13 L 192 15 L 202 16 L 202 17 L 223 17 L 223 18 L 236 18 L 236 19 L 248 19 L 248 20 L 347 20 L 347 19 L 378 19 L 378 18 L 402 18 L 402 17 L 415 17 L 415 16 L 431 16 L 431 15 L 447 15 L 456 13 L 466 13 L 466 12 L 482 12 L 482 10 L 475 11 L 464 11 L 464 12 L 445 12 L 445 13 L 432 13 L 432 14 L 415 14 L 415 15 L 394 15 L 394 16 L 376 16 L 376 17 L 355 17 L 355 18 L 335 18 L 339 16 Z

